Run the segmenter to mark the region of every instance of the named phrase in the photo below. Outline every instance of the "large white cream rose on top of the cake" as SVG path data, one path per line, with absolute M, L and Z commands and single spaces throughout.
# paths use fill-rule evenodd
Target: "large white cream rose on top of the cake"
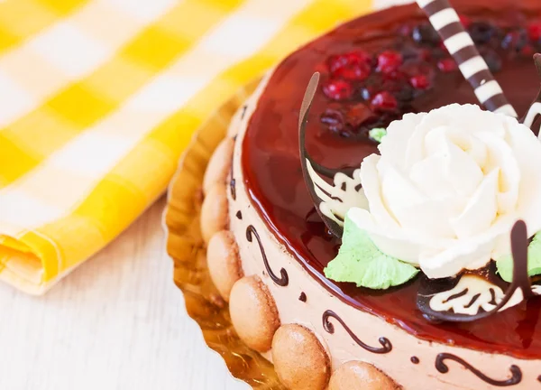
M 451 105 L 390 124 L 361 167 L 368 209 L 348 217 L 430 278 L 509 253 L 518 218 L 541 230 L 541 142 L 515 118 Z

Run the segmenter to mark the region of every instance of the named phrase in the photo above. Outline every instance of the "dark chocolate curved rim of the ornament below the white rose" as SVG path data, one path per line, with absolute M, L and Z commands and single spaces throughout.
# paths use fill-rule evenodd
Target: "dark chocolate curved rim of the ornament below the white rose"
M 491 311 L 481 311 L 475 315 L 456 314 L 452 311 L 433 311 L 428 303 L 429 294 L 419 294 L 417 296 L 417 307 L 426 314 L 425 318 L 436 321 L 451 322 L 471 322 L 490 317 L 500 311 L 513 297 L 518 289 L 522 291 L 524 300 L 527 300 L 535 293 L 532 291 L 532 285 L 527 274 L 527 228 L 523 220 L 518 220 L 511 229 L 511 255 L 513 256 L 513 281 L 505 292 L 500 303 Z M 432 282 L 434 283 L 434 282 Z

